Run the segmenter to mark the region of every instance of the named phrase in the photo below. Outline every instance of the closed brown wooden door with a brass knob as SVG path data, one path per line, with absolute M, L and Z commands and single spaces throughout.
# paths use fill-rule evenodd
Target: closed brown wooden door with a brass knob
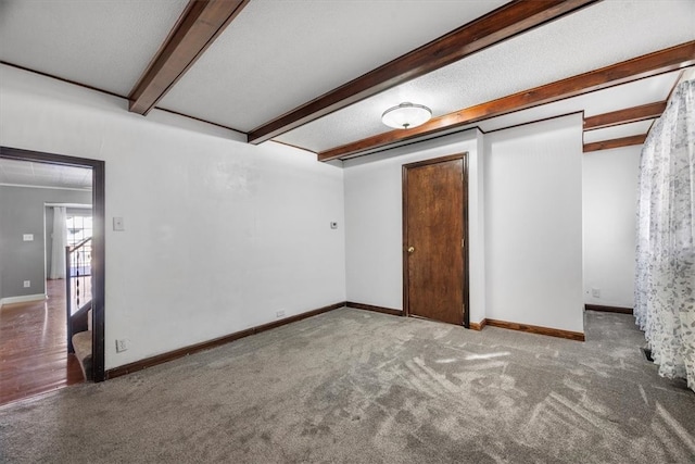
M 403 166 L 406 315 L 468 326 L 466 154 Z

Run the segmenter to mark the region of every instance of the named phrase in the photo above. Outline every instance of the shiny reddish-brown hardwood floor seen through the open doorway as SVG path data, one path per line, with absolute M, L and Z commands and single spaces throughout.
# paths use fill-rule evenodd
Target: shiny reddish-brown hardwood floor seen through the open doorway
M 48 300 L 0 309 L 0 405 L 84 381 L 67 354 L 65 281 L 47 281 Z

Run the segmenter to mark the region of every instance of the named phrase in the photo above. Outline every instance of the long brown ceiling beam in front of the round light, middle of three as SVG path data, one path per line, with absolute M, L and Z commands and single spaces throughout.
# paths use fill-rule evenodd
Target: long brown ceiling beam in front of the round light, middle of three
M 249 133 L 261 143 L 601 0 L 514 0 Z

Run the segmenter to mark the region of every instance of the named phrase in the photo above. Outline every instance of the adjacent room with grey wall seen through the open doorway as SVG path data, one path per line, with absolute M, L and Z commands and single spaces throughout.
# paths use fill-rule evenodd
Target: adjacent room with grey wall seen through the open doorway
M 86 377 L 67 318 L 88 325 L 91 180 L 91 170 L 0 158 L 0 403 Z

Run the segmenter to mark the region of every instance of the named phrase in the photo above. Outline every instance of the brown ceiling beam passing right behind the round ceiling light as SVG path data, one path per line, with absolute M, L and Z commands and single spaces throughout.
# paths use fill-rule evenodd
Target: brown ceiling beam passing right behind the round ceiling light
M 351 156 L 392 143 L 421 138 L 515 111 L 527 110 L 541 104 L 552 103 L 566 98 L 577 97 L 620 84 L 677 71 L 694 64 L 695 41 L 690 41 L 486 103 L 444 114 L 412 129 L 390 130 L 352 143 L 325 150 L 318 153 L 318 160 L 330 161 Z

